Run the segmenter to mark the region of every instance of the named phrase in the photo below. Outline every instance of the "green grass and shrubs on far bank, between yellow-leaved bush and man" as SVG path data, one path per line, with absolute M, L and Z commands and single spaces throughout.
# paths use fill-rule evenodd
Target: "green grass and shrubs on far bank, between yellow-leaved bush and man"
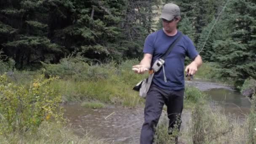
M 131 68 L 137 60 L 128 60 L 121 64 L 113 62 L 104 65 L 89 66 L 72 59 L 62 60 L 57 65 L 47 65 L 46 75 L 60 75 L 61 80 L 52 87 L 59 90 L 63 101 L 97 100 L 107 104 L 135 107 L 143 101 L 132 88 L 143 77 Z M 76 65 L 77 64 L 77 65 Z M 67 72 L 65 72 L 67 71 Z

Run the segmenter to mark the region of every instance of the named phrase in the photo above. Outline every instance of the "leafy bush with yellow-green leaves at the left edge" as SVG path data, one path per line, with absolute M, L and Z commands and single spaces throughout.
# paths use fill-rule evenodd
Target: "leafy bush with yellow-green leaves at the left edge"
M 10 83 L 6 75 L 0 76 L 0 133 L 20 134 L 36 131 L 43 121 L 61 122 L 63 112 L 61 96 L 50 85 L 56 77 L 44 79 L 43 75 L 29 88 Z

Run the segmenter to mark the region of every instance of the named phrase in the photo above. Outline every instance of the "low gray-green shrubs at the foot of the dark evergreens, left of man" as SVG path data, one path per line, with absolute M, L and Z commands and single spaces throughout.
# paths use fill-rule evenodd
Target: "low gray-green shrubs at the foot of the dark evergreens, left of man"
M 95 64 L 90 66 L 80 57 L 68 57 L 61 59 L 59 64 L 45 64 L 42 73 L 46 77 L 59 76 L 64 80 L 105 80 L 116 72 L 115 63 Z

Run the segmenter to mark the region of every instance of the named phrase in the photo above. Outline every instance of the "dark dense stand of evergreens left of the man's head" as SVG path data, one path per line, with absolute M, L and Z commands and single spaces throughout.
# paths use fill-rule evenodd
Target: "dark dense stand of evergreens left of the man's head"
M 70 53 L 90 61 L 141 55 L 159 0 L 0 0 L 0 45 L 17 68 L 56 63 Z

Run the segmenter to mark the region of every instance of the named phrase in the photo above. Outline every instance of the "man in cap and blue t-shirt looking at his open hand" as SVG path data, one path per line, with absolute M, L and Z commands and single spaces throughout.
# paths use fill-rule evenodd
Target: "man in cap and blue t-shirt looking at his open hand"
M 139 65 L 133 66 L 133 68 L 136 68 L 135 72 L 138 74 L 144 74 L 144 72 L 150 69 L 152 64 L 164 55 L 173 41 L 179 35 L 182 35 L 177 30 L 177 24 L 181 20 L 178 5 L 173 3 L 164 5 L 161 19 L 163 29 L 147 36 L 143 50 L 144 58 Z M 195 50 L 192 40 L 186 35 L 183 35 L 173 47 L 171 53 L 165 58 L 164 67 L 155 73 L 152 80 L 144 108 L 145 122 L 141 129 L 141 144 L 153 143 L 155 127 L 157 126 L 164 104 L 167 106 L 169 130 L 174 128 L 176 118 L 180 117 L 183 109 L 185 56 L 189 56 L 193 60 L 186 67 L 185 71 L 188 75 L 194 75 L 197 68 L 202 64 L 202 59 Z M 181 122 L 178 125 L 180 128 Z

